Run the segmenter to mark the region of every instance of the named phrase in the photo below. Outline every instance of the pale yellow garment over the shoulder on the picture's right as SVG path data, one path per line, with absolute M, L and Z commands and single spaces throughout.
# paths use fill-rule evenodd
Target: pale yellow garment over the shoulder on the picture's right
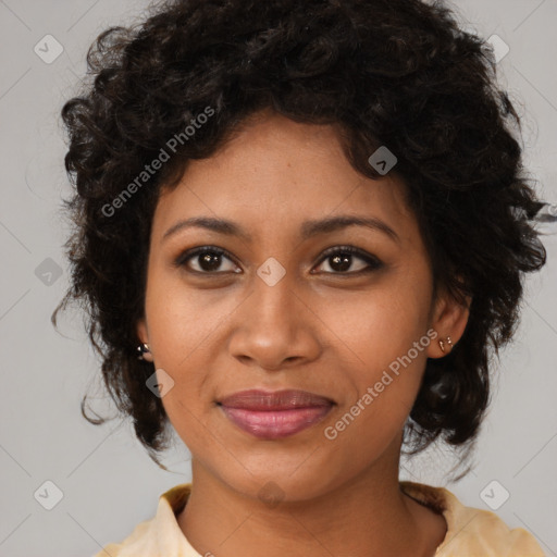
M 445 540 L 435 557 L 544 557 L 534 536 L 522 528 L 509 529 L 494 512 L 467 507 L 448 490 L 400 482 L 409 497 L 443 513 Z

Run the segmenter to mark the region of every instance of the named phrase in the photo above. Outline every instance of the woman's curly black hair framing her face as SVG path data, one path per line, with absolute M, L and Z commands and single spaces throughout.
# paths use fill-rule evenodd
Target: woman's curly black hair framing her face
M 381 177 L 369 162 L 380 146 L 395 153 L 435 292 L 471 299 L 460 342 L 428 360 L 405 429 L 412 454 L 437 438 L 469 449 L 490 401 L 491 350 L 513 336 L 524 273 L 546 260 L 534 224 L 544 203 L 523 174 L 520 116 L 488 42 L 442 2 L 174 0 L 150 10 L 98 36 L 89 79 L 62 109 L 75 193 L 64 200 L 71 286 L 54 325 L 81 302 L 104 385 L 159 462 L 169 421 L 146 388 L 153 367 L 137 358 L 136 325 L 161 188 L 261 110 L 334 125 L 367 177 Z M 147 175 L 163 151 L 172 156 Z M 86 400 L 85 418 L 106 421 L 87 416 Z

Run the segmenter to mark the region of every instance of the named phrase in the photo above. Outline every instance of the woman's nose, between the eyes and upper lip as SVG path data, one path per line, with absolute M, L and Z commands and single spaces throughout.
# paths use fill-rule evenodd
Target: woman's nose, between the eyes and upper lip
M 284 277 L 269 286 L 259 277 L 235 312 L 237 325 L 228 345 L 244 364 L 278 371 L 310 362 L 321 354 L 319 319 Z

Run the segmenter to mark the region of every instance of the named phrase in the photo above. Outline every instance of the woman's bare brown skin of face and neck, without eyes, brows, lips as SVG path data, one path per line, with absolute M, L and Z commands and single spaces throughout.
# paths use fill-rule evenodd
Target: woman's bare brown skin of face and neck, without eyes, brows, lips
M 428 330 L 456 344 L 466 327 L 468 307 L 443 293 L 433 299 L 430 259 L 403 188 L 394 171 L 381 180 L 356 172 L 332 126 L 264 111 L 162 193 L 137 333 L 154 368 L 174 381 L 162 401 L 193 466 L 177 521 L 201 555 L 425 557 L 442 543 L 445 519 L 398 485 L 403 428 L 426 358 L 444 356 L 436 339 L 334 441 L 324 435 Z M 373 215 L 399 239 L 363 226 L 301 238 L 302 222 L 339 214 Z M 251 239 L 201 227 L 163 238 L 191 216 L 234 221 Z M 234 260 L 223 256 L 212 273 L 199 256 L 173 264 L 199 246 Z M 343 246 L 383 267 L 357 274 L 370 267 L 355 255 L 339 270 L 323 252 Z M 270 257 L 286 273 L 274 286 L 257 274 Z M 299 388 L 335 406 L 296 435 L 259 440 L 215 403 L 248 388 Z M 269 492 L 275 505 L 260 496 Z

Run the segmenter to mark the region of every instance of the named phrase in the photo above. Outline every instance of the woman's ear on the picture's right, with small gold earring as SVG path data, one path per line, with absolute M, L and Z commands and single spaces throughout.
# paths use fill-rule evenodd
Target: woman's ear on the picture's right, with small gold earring
M 453 346 L 458 343 L 465 333 L 468 318 L 470 317 L 471 302 L 472 299 L 469 296 L 466 296 L 465 304 L 461 304 L 447 292 L 440 293 L 435 301 L 430 325 L 437 332 L 437 336 L 428 347 L 429 358 L 443 358 L 443 356 L 450 351 L 450 346 L 446 341 L 447 336 L 450 337 Z M 440 341 L 445 343 L 445 351 L 441 349 Z

